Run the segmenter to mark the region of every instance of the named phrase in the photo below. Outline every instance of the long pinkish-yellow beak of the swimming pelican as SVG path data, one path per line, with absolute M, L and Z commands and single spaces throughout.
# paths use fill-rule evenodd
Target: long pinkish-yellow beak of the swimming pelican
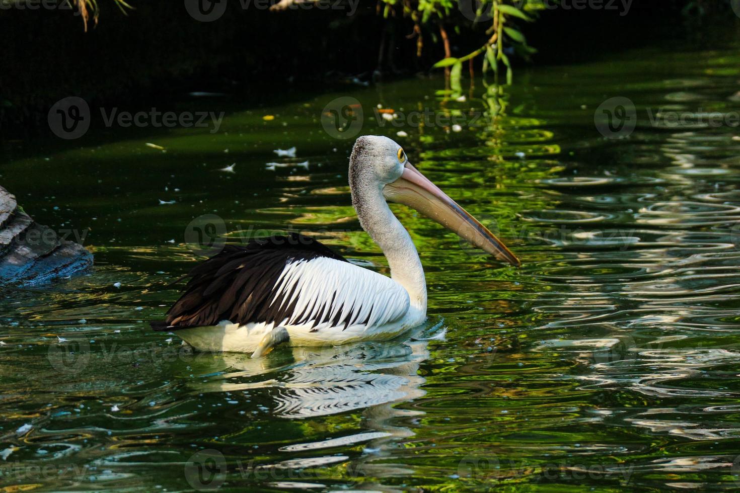
M 462 239 L 482 248 L 502 262 L 519 267 L 522 262 L 511 253 L 500 239 L 468 214 L 464 208 L 431 183 L 411 163 L 406 161 L 403 174 L 393 183 L 383 187 L 386 200 L 415 208 L 426 217 L 454 231 Z

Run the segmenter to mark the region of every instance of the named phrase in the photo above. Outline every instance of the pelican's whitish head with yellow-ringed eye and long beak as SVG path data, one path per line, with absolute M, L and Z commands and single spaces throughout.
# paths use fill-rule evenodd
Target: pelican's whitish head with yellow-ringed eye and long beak
M 488 228 L 411 166 L 403 148 L 388 137 L 366 135 L 357 139 L 349 160 L 349 183 L 361 221 L 371 211 L 363 214 L 366 204 L 360 195 L 366 197 L 368 191 L 377 190 L 385 200 L 416 209 L 498 260 L 521 265 Z

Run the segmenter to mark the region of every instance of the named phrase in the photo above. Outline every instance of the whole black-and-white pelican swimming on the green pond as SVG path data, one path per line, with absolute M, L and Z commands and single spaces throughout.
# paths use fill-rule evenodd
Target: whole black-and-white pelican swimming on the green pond
M 226 245 L 193 268 L 185 293 L 154 330 L 195 350 L 266 355 L 277 344 L 391 339 L 426 319 L 426 283 L 408 231 L 386 200 L 415 208 L 504 262 L 506 246 L 411 163 L 388 137 L 364 136 L 349 158 L 352 205 L 391 276 L 351 264 L 301 234 Z

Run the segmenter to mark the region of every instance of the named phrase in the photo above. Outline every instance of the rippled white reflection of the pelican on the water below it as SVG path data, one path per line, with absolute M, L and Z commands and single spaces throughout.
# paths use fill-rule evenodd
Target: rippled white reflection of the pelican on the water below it
M 428 322 L 425 327 L 412 331 L 411 339 L 406 341 L 366 341 L 343 347 L 290 347 L 276 358 L 255 359 L 238 353 L 203 356 L 187 371 L 211 376 L 205 381 L 189 379 L 188 385 L 197 395 L 209 392 L 235 395 L 263 390 L 260 402 L 268 408 L 265 412 L 283 419 L 361 412 L 361 429 L 341 432 L 331 438 L 286 444 L 279 449 L 286 453 L 286 459 L 278 457 L 260 463 L 259 467 L 292 470 L 343 462 L 357 474 L 386 477 L 397 473 L 397 466 L 380 459 L 394 453 L 395 441 L 414 435 L 411 428 L 404 426 L 404 421 L 423 414 L 400 409 L 397 404 L 425 395 L 421 388 L 425 379 L 418 374 L 419 365 L 429 356 L 429 340 L 442 339 L 445 334 L 443 322 L 430 326 Z M 420 339 L 422 337 L 428 339 Z M 265 402 L 265 398 L 269 402 Z M 331 452 L 334 447 L 355 443 L 363 443 L 373 452 L 354 458 Z M 294 455 L 303 459 L 297 460 Z

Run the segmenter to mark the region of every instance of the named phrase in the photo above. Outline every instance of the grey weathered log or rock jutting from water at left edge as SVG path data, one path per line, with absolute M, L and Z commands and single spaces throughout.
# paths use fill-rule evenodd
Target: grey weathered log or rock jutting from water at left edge
M 91 265 L 89 251 L 35 222 L 0 186 L 0 286 L 37 285 Z

